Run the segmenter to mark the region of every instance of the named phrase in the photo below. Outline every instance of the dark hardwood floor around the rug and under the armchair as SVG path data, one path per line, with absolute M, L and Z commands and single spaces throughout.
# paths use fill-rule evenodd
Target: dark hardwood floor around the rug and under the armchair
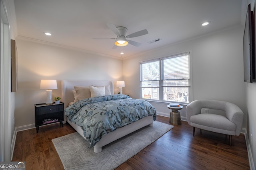
M 157 121 L 168 123 L 168 117 L 157 116 Z M 62 170 L 62 162 L 52 139 L 75 130 L 68 124 L 52 124 L 20 131 L 12 161 L 26 161 L 26 170 Z M 121 164 L 116 170 L 249 170 L 244 135 L 232 137 L 193 128 L 186 121 L 175 127 Z

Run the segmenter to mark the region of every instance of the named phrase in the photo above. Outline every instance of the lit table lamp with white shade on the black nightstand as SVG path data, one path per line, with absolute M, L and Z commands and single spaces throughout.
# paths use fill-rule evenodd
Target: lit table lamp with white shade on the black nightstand
M 52 102 L 52 89 L 57 89 L 56 80 L 41 80 L 40 89 L 46 90 L 46 105 L 51 105 Z

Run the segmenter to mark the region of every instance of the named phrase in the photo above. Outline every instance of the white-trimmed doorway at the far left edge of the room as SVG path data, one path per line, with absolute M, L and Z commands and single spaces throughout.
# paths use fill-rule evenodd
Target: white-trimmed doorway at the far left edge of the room
M 0 161 L 11 160 L 10 128 L 10 27 L 4 1 L 0 0 Z

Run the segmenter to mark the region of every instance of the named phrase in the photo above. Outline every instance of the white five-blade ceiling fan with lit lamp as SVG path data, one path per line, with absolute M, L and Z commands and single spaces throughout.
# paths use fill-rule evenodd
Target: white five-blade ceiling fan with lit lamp
M 116 27 L 112 23 L 107 23 L 108 27 L 117 35 L 116 38 L 94 38 L 94 39 L 115 39 L 115 45 L 113 47 L 117 48 L 117 46 L 123 47 L 128 44 L 134 45 L 136 47 L 139 47 L 141 43 L 138 43 L 136 41 L 128 40 L 128 38 L 133 38 L 133 37 L 139 37 L 142 35 L 148 34 L 148 31 L 146 29 L 143 29 L 141 31 L 137 31 L 135 33 L 126 35 L 127 28 L 126 27 Z

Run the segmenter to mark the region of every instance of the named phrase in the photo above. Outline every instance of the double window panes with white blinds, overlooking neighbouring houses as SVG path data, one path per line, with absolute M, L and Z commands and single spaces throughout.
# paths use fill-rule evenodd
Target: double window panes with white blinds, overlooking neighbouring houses
M 142 99 L 189 103 L 189 53 L 140 63 Z

